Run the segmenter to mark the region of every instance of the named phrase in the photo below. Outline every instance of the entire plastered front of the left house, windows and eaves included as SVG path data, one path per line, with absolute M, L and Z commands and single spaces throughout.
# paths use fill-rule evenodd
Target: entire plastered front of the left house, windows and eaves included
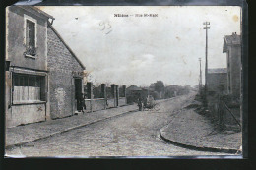
M 6 8 L 6 126 L 46 120 L 47 25 L 54 18 L 31 6 Z

